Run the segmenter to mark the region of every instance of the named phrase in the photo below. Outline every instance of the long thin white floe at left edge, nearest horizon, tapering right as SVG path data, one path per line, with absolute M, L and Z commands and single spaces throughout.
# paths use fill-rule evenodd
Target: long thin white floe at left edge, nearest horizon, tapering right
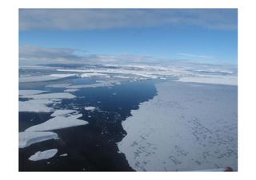
M 20 76 L 18 81 L 20 83 L 47 81 L 47 80 L 58 80 L 69 76 L 76 76 L 76 74 L 50 74 L 43 76 Z

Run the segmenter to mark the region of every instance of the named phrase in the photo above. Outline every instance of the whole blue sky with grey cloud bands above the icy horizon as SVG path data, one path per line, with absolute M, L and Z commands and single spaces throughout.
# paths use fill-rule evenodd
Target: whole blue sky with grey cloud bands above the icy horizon
M 238 61 L 236 9 L 20 9 L 20 64 Z

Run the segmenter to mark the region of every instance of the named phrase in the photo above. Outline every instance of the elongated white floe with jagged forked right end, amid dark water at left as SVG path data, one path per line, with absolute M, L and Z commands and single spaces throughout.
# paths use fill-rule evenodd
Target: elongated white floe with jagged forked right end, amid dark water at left
M 57 116 L 47 120 L 44 123 L 29 127 L 26 129 L 26 131 L 50 131 L 66 127 L 86 125 L 88 122 L 82 119 L 78 119 L 80 117 L 82 117 L 82 114 L 70 115 L 69 117 Z

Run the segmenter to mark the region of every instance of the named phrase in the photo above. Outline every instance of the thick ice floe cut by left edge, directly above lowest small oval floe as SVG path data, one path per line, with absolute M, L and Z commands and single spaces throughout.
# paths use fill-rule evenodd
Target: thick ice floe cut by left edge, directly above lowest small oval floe
M 20 132 L 18 133 L 18 147 L 29 147 L 31 144 L 39 143 L 49 139 L 58 139 L 58 135 L 54 132 Z

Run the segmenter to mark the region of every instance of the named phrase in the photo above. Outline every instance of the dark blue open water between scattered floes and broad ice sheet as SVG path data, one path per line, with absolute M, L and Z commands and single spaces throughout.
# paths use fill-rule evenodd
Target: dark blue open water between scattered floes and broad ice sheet
M 61 83 L 91 84 L 76 78 L 66 78 Z M 45 89 L 46 84 L 57 84 L 59 80 L 40 83 L 20 84 L 20 89 Z M 63 92 L 64 88 L 51 88 L 52 92 Z M 83 88 L 72 92 L 77 98 L 62 100 L 55 108 L 76 109 L 89 122 L 85 126 L 55 130 L 58 140 L 35 143 L 19 149 L 20 171 L 132 171 L 125 155 L 118 152 L 117 144 L 126 135 L 122 121 L 130 116 L 130 111 L 152 99 L 157 90 L 153 80 L 125 82 L 113 87 Z M 86 111 L 86 106 L 94 106 L 94 112 Z M 19 112 L 19 131 L 43 123 L 51 113 Z M 88 117 L 90 115 L 90 117 Z M 30 155 L 37 151 L 57 148 L 53 158 L 32 162 Z M 67 153 L 65 157 L 59 155 Z

